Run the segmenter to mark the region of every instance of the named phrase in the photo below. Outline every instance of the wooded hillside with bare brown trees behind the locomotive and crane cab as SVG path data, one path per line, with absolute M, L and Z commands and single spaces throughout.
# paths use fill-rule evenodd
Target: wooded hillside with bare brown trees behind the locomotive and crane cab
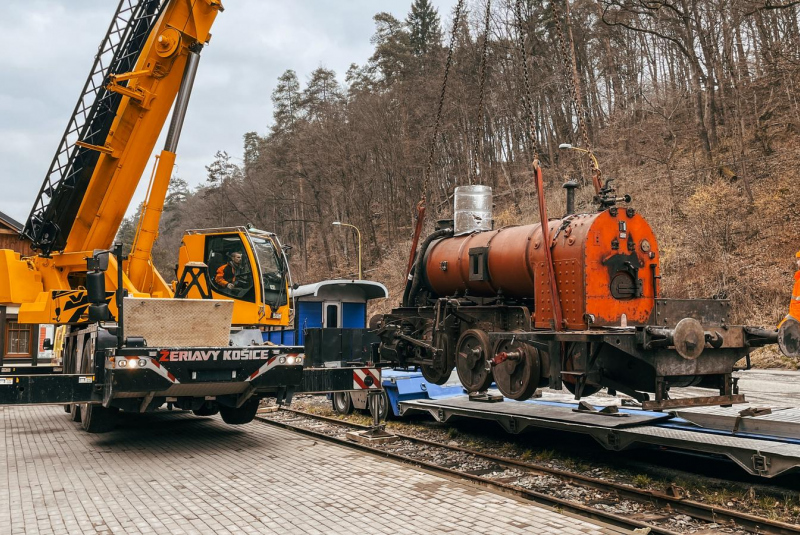
M 268 130 L 242 133 L 243 159 L 218 153 L 193 190 L 173 179 L 162 273 L 183 229 L 251 223 L 293 246 L 296 282 L 354 277 L 355 236 L 332 226 L 343 221 L 361 230 L 388 309 L 423 192 L 426 231 L 464 184 L 492 186 L 496 226 L 533 222 L 538 155 L 550 214 L 569 178 L 579 211 L 593 210 L 588 159 L 559 150 L 570 143 L 654 227 L 666 296 L 724 296 L 751 324 L 786 313 L 800 248 L 798 2 L 469 0 L 460 15 L 429 0 L 377 13 L 374 53 L 344 84 L 323 67 L 307 80 L 287 70 Z

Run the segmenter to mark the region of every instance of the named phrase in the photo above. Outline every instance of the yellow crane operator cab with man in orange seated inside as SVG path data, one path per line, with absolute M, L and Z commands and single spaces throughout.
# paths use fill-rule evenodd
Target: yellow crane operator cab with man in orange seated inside
M 212 298 L 234 301 L 234 325 L 288 324 L 289 263 L 275 234 L 245 227 L 188 230 L 179 276 L 190 262 L 207 266 Z M 186 297 L 202 298 L 201 288 L 189 289 Z

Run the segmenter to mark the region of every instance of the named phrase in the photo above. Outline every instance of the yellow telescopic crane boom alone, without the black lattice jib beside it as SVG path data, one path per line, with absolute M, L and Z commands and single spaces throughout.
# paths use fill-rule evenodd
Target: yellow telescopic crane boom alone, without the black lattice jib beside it
M 219 0 L 170 0 L 133 70 L 110 77 L 108 88 L 123 99 L 98 148 L 65 252 L 111 246 L 178 94 L 190 49 L 208 41 L 221 8 Z

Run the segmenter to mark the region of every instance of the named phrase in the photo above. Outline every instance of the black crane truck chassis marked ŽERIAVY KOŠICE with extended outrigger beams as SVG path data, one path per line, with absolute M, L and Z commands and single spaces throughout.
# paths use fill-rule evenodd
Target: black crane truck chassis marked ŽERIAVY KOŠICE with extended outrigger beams
M 99 251 L 87 259 L 92 323 L 66 336 L 64 372 L 0 374 L 0 405 L 64 404 L 86 431 L 103 432 L 113 428 L 119 410 L 149 412 L 169 403 L 198 416 L 219 412 L 236 425 L 252 421 L 265 397 L 288 405 L 295 392 L 381 388 L 380 370 L 371 365 L 319 368 L 306 360 L 301 346 L 223 345 L 230 332 L 230 300 L 126 297 L 121 284 L 109 296 L 108 254 Z M 114 254 L 121 265 L 121 244 Z M 108 321 L 114 319 L 109 298 L 116 301 L 116 321 Z M 166 313 L 158 308 L 164 305 Z M 127 333 L 128 323 L 139 330 Z M 143 323 L 156 340 L 180 345 L 148 344 Z M 254 332 L 260 338 L 260 331 Z M 196 343 L 187 343 L 189 338 Z M 202 345 L 206 340 L 218 343 Z

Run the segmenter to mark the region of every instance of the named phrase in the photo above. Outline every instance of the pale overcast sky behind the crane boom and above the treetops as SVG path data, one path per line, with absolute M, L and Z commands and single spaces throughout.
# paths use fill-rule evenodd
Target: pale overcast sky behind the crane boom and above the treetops
M 278 76 L 317 67 L 344 81 L 372 55 L 373 15 L 405 19 L 412 0 L 224 0 L 203 51 L 178 147 L 196 185 L 218 150 L 241 158 L 245 132 L 267 132 Z M 443 22 L 455 0 L 433 0 Z M 75 107 L 117 0 L 11 0 L 0 17 L 0 211 L 24 223 Z M 156 150 L 163 147 L 163 140 Z M 149 176 L 150 167 L 146 171 Z M 142 181 L 132 207 L 144 198 Z M 129 210 L 130 213 L 130 210 Z

